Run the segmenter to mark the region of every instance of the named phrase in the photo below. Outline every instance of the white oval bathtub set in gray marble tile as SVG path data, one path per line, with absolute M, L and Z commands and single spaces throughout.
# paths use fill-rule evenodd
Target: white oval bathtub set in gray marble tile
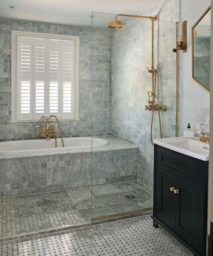
M 61 145 L 61 138 L 57 138 L 57 148 L 55 139 L 27 139 L 20 141 L 1 141 L 0 159 L 6 156 L 37 156 L 37 155 L 55 155 L 56 153 L 68 153 L 75 151 L 88 152 L 93 149 L 99 149 L 107 146 L 107 139 L 99 137 L 71 137 L 64 138 L 65 147 Z M 4 157 L 5 156 L 5 157 Z M 8 158 L 8 157 L 7 157 Z

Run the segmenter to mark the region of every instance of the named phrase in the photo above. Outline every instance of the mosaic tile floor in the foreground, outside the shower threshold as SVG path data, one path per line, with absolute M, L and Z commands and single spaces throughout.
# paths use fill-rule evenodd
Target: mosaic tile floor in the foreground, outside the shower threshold
M 192 256 L 150 215 L 0 243 L 3 256 Z

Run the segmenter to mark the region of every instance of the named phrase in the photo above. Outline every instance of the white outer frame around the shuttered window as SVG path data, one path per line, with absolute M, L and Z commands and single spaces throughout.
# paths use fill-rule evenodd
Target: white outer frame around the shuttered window
M 17 73 L 17 39 L 18 37 L 33 37 L 43 39 L 71 40 L 75 41 L 75 113 L 73 118 L 63 118 L 61 121 L 79 120 L 79 37 L 71 35 L 55 35 L 49 33 L 34 33 L 25 31 L 12 31 L 11 51 L 11 122 L 35 122 L 35 119 L 19 119 L 19 95 Z

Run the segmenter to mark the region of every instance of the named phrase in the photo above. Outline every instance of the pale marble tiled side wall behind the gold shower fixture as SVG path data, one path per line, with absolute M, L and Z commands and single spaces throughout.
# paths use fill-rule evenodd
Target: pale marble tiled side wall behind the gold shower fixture
M 167 3 L 168 1 L 166 1 Z M 175 136 L 176 113 L 176 24 L 173 9 L 161 6 L 160 21 L 155 23 L 155 65 L 158 72 L 158 103 L 168 107 L 162 113 L 164 137 Z M 157 8 L 157 7 L 156 7 Z M 166 9 L 166 11 L 165 11 Z M 159 9 L 150 13 L 156 15 Z M 147 13 L 147 12 L 146 12 Z M 177 14 L 177 13 L 176 13 Z M 148 91 L 152 89 L 151 75 L 146 67 L 151 65 L 151 26 L 149 20 L 130 19 L 126 29 L 112 34 L 112 135 L 130 141 L 139 147 L 138 179 L 148 187 L 153 185 L 153 147 L 150 143 L 151 113 L 144 111 Z M 154 116 L 153 134 L 159 135 L 158 116 Z

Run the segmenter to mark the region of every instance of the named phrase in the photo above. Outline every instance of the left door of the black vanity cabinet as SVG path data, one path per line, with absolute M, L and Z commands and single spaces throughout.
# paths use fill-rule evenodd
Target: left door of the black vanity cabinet
M 174 177 L 157 168 L 155 186 L 155 217 L 173 230 L 176 198 L 170 187 L 176 186 Z

